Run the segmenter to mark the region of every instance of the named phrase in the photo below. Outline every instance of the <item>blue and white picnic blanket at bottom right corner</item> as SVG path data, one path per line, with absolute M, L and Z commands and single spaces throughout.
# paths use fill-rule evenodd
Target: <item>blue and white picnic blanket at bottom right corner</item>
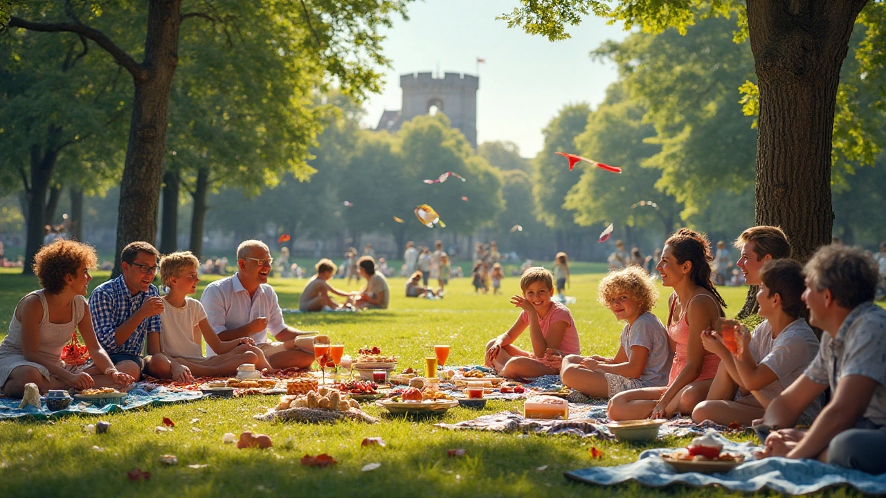
M 759 447 L 751 443 L 736 443 L 719 434 L 714 437 L 723 443 L 723 449 L 742 453 L 746 462 L 727 473 L 678 473 L 657 456 L 672 449 L 649 449 L 634 463 L 615 467 L 590 467 L 566 472 L 568 479 L 589 484 L 610 486 L 630 480 L 644 486 L 723 486 L 733 491 L 757 492 L 768 488 L 785 494 L 814 493 L 829 486 L 849 485 L 862 493 L 886 494 L 886 474 L 873 476 L 862 471 L 843 469 L 817 460 L 790 460 L 765 458 L 754 460 Z

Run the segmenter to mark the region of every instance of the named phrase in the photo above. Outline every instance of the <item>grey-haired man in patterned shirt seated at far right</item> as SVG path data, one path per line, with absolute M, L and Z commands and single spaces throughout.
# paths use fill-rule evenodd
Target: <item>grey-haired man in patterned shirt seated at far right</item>
M 817 458 L 865 471 L 886 472 L 886 310 L 874 304 L 879 278 L 859 248 L 821 247 L 804 267 L 803 300 L 821 346 L 809 368 L 754 424 L 772 432 L 766 456 Z M 808 431 L 790 429 L 821 393 L 831 400 Z

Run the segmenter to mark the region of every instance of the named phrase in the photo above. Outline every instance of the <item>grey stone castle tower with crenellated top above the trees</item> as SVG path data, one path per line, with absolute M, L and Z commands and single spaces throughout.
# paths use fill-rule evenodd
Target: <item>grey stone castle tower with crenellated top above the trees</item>
M 447 73 L 435 78 L 431 73 L 400 75 L 403 104 L 400 111 L 385 111 L 376 129 L 396 132 L 406 121 L 431 112 L 446 114 L 468 143 L 477 149 L 477 90 L 480 79 L 472 74 Z

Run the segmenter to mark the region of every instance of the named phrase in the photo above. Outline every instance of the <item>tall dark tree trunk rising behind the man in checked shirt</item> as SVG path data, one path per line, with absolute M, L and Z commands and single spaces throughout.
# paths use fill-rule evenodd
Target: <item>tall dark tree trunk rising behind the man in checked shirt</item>
M 148 6 L 144 66 L 136 85 L 129 142 L 117 217 L 117 250 L 113 276 L 120 275 L 120 252 L 136 240 L 157 237 L 157 212 L 163 159 L 166 155 L 169 92 L 178 65 L 181 0 L 151 0 Z

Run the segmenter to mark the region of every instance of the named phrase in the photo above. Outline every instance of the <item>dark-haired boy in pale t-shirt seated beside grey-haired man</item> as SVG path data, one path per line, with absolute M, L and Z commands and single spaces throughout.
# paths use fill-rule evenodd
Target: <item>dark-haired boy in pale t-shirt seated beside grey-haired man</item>
M 754 330 L 753 337 L 740 325 L 734 332 L 737 350 L 730 351 L 722 332 L 702 333 L 704 349 L 719 356 L 720 366 L 707 401 L 692 412 L 697 423 L 711 420 L 750 426 L 763 416 L 770 401 L 803 375 L 818 354 L 819 339 L 802 317 L 805 306 L 801 296 L 806 287 L 800 263 L 789 259 L 767 261 L 756 278 L 760 282 L 758 315 L 766 320 Z M 820 402 L 812 402 L 800 423 L 812 424 L 820 409 Z

